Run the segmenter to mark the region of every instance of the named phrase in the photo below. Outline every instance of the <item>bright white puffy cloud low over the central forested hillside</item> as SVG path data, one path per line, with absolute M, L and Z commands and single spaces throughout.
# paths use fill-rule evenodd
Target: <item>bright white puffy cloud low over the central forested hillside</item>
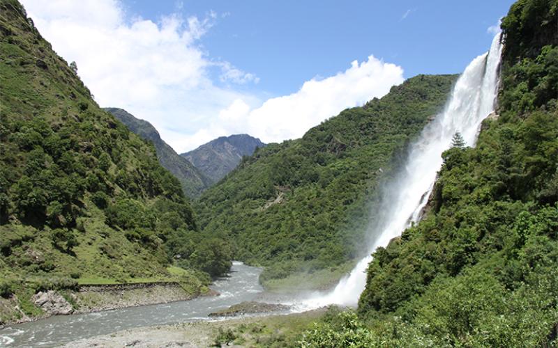
M 311 79 L 291 95 L 275 97 L 252 108 L 241 98 L 220 111 L 209 127 L 183 137 L 183 147 L 215 136 L 248 132 L 266 143 L 296 139 L 343 109 L 382 97 L 403 81 L 403 70 L 374 56 L 326 79 Z

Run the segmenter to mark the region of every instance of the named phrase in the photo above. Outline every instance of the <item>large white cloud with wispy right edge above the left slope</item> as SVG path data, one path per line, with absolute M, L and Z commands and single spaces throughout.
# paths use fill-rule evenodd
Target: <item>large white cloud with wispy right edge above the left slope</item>
M 77 63 L 78 74 L 101 106 L 117 106 L 149 120 L 163 139 L 193 134 L 231 102 L 255 100 L 227 84 L 257 82 L 229 62 L 211 61 L 199 40 L 218 20 L 170 14 L 153 22 L 133 17 L 117 0 L 24 0 L 27 13 L 54 50 Z M 176 3 L 181 7 L 181 2 Z

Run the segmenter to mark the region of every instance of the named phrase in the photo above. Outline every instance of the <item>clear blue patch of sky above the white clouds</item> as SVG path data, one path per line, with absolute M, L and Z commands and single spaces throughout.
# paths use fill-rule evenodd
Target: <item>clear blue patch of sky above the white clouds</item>
M 513 2 L 125 1 L 130 13 L 152 19 L 176 11 L 203 17 L 213 10 L 218 19 L 202 40 L 204 49 L 256 74 L 257 89 L 273 95 L 292 93 L 370 54 L 400 65 L 406 78 L 462 72 L 490 47 L 488 27 Z

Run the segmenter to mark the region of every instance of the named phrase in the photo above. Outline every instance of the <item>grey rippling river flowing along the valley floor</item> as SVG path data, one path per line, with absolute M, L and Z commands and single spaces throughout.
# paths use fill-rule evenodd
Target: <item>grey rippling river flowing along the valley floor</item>
M 259 299 L 264 294 L 258 281 L 261 272 L 262 269 L 257 267 L 234 262 L 229 276 L 219 278 L 211 285 L 220 296 L 79 315 L 58 315 L 36 322 L 13 324 L 0 330 L 0 346 L 55 347 L 136 327 L 207 320 L 209 313 L 218 309 Z

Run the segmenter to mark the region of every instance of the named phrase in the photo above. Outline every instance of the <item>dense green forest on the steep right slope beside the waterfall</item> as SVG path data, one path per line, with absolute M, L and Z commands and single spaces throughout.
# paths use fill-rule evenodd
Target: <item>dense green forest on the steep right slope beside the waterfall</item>
M 558 1 L 518 1 L 502 31 L 499 118 L 444 152 L 428 216 L 303 346 L 557 345 Z

